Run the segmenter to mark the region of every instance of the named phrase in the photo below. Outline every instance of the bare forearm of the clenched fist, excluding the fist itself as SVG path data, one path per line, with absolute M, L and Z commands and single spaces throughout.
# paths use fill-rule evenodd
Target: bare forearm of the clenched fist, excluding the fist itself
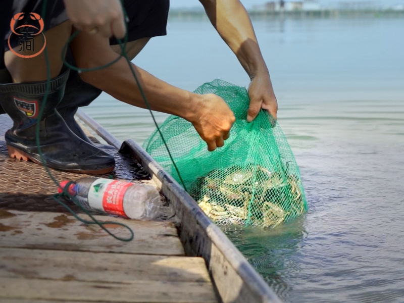
M 95 47 L 86 47 L 87 45 L 83 44 L 85 43 L 84 40 L 89 43 L 91 41 L 88 39 L 96 38 L 88 37 L 88 35 L 84 37 L 84 34 L 81 33 L 80 35 L 72 43 L 72 52 L 78 67 L 94 68 L 117 58 L 118 55 L 112 51 L 110 46 L 105 45 L 104 42 L 101 43 L 101 41 L 98 41 L 97 44 L 95 41 L 91 43 L 91 46 L 99 45 L 98 52 L 100 53 L 91 52 L 91 49 Z M 152 110 L 176 115 L 188 121 L 193 120 L 194 108 L 200 102 L 199 95 L 172 86 L 132 63 L 131 66 Z M 83 72 L 80 77 L 85 82 L 102 89 L 118 100 L 137 107 L 147 108 L 136 80 L 124 58 L 107 68 Z

